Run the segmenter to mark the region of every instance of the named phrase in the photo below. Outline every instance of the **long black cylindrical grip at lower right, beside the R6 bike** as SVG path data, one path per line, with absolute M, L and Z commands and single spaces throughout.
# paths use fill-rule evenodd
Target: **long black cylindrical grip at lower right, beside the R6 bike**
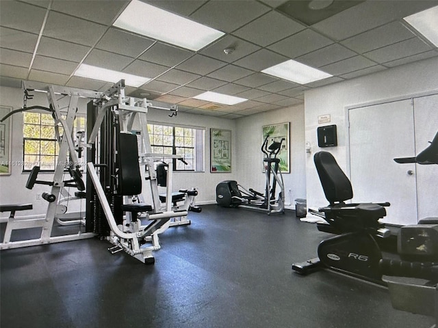
M 383 275 L 415 277 L 428 280 L 438 279 L 438 264 L 433 262 L 408 262 L 382 259 L 379 262 Z

